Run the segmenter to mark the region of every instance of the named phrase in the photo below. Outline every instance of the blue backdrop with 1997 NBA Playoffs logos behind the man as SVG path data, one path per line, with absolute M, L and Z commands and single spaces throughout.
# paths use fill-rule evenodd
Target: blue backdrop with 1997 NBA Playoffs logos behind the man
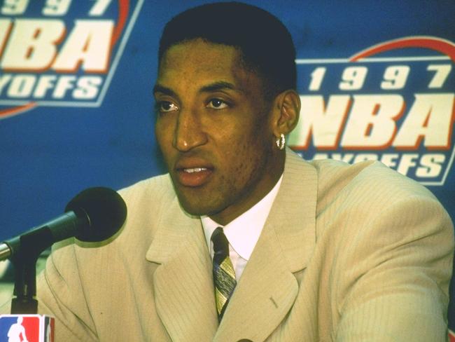
M 0 0 L 0 240 L 85 188 L 165 172 L 153 133 L 158 40 L 204 2 Z M 295 41 L 302 111 L 288 144 L 307 160 L 380 160 L 455 218 L 455 2 L 246 2 Z

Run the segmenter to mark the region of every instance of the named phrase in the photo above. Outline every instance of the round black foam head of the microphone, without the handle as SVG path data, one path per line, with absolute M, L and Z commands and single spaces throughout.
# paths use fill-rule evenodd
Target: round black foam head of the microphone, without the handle
M 127 205 L 112 189 L 90 188 L 78 193 L 65 212 L 73 211 L 76 216 L 86 215 L 89 225 L 79 226 L 76 238 L 84 242 L 100 242 L 111 238 L 123 226 L 127 217 Z

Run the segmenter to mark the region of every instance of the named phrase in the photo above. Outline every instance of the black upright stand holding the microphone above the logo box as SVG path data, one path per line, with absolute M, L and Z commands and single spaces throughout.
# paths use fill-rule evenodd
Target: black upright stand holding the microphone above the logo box
M 38 301 L 35 299 L 36 261 L 50 245 L 52 233 L 49 228 L 29 231 L 8 241 L 10 249 L 15 251 L 10 259 L 15 271 L 15 298 L 11 301 L 11 314 L 38 313 Z

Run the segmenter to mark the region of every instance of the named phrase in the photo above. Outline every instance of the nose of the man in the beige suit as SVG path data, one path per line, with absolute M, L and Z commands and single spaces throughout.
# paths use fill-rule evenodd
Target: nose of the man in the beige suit
M 195 111 L 181 110 L 174 132 L 173 146 L 181 152 L 187 152 L 207 142 L 207 135 L 202 129 L 200 118 Z

